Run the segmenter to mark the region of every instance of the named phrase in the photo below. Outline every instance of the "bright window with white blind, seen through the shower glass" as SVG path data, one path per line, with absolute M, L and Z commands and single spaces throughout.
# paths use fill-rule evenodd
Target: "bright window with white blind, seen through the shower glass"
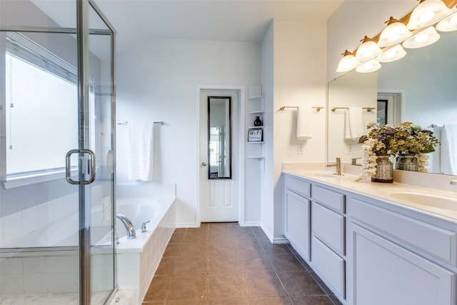
M 76 84 L 73 66 L 26 37 L 9 34 L 5 187 L 62 177 L 66 152 L 78 147 Z M 93 90 L 90 100 L 94 105 Z

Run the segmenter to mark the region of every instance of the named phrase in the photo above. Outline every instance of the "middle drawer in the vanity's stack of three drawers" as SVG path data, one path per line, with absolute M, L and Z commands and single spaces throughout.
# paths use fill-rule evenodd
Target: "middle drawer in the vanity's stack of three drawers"
M 344 216 L 313 202 L 311 208 L 313 234 L 338 254 L 344 255 Z

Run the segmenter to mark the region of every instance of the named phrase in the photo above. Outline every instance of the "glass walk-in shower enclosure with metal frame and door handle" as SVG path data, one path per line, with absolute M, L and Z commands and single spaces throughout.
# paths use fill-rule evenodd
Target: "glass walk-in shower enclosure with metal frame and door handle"
M 114 29 L 89 0 L 0 0 L 0 303 L 104 304 Z

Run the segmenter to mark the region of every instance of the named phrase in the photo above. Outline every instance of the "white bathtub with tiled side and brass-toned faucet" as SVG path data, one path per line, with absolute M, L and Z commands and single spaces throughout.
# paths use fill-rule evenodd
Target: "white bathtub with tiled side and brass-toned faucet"
M 136 231 L 135 239 L 127 239 L 126 229 L 119 221 L 117 279 L 121 290 L 135 290 L 141 304 L 159 266 L 166 245 L 176 226 L 174 184 L 120 184 L 116 186 L 116 213 L 127 216 Z M 146 224 L 146 232 L 141 225 Z

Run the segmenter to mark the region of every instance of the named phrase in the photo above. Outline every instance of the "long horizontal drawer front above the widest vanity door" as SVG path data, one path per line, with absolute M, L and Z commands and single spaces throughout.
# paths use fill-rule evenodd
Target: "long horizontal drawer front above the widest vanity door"
M 457 266 L 457 234 L 408 216 L 396 214 L 367 202 L 350 199 L 349 214 L 406 245 Z

